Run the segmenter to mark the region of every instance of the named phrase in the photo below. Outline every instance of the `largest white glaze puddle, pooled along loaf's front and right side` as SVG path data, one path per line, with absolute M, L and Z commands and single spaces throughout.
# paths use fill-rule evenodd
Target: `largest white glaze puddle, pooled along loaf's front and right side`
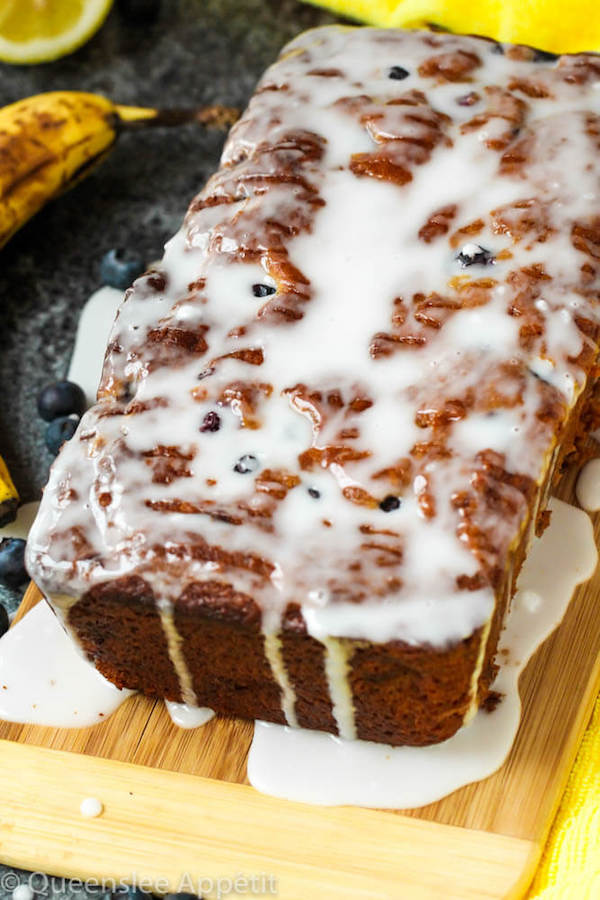
M 248 759 L 250 783 L 265 794 L 319 805 L 388 809 L 424 806 L 481 781 L 504 762 L 519 726 L 518 678 L 563 618 L 576 585 L 594 573 L 589 516 L 551 500 L 552 520 L 533 542 L 501 638 L 508 651 L 493 685 L 504 694 L 454 737 L 430 747 L 345 741 L 323 732 L 257 722 Z

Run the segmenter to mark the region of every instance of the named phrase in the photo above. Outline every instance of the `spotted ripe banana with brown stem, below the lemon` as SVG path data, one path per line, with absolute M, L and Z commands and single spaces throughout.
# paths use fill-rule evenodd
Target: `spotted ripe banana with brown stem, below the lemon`
M 98 94 L 56 91 L 0 109 L 0 247 L 48 200 L 83 178 L 119 133 L 197 121 L 223 128 L 236 110 L 156 110 L 119 106 Z M 1 477 L 1 476 L 0 476 Z

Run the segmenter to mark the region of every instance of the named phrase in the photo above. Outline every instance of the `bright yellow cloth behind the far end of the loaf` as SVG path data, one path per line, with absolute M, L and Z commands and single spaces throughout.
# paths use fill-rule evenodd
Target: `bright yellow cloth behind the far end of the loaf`
M 310 0 L 370 25 L 428 22 L 556 53 L 600 50 L 598 0 Z

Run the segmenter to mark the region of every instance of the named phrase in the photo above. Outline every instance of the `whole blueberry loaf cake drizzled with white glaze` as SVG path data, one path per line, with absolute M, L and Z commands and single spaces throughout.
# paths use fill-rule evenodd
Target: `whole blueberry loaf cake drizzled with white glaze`
M 54 464 L 32 577 L 119 686 L 421 745 L 488 700 L 597 422 L 600 58 L 293 41 Z

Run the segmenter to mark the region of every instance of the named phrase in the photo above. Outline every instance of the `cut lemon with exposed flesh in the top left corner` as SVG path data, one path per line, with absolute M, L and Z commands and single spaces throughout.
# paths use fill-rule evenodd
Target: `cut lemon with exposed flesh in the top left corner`
M 0 60 L 48 62 L 72 53 L 111 6 L 112 0 L 0 0 Z

